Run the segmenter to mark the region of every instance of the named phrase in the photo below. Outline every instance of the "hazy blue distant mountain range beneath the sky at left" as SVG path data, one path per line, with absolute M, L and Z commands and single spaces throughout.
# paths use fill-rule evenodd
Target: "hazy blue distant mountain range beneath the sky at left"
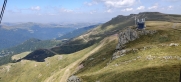
M 30 38 L 40 40 L 56 39 L 68 32 L 90 26 L 91 23 L 77 24 L 40 24 L 40 23 L 3 23 L 0 26 L 0 50 L 18 45 Z

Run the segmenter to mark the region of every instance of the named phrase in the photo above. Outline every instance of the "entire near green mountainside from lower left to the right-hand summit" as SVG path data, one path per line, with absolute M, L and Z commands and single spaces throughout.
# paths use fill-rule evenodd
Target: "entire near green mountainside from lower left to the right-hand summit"
M 0 66 L 0 82 L 178 82 L 181 16 L 144 13 L 137 15 L 147 16 L 145 30 L 135 29 L 135 14 L 120 15 L 59 46 L 17 54 L 22 60 Z M 131 32 L 138 36 L 128 39 Z

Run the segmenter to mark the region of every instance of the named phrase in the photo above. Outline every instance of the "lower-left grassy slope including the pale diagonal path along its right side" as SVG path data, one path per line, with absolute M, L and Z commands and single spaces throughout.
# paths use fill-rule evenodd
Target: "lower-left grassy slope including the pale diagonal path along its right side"
M 66 82 L 66 79 L 78 70 L 78 65 L 83 60 L 105 44 L 112 43 L 109 38 L 73 54 L 55 55 L 47 58 L 45 62 L 22 60 L 0 66 L 0 82 Z M 115 39 L 114 36 L 113 40 Z

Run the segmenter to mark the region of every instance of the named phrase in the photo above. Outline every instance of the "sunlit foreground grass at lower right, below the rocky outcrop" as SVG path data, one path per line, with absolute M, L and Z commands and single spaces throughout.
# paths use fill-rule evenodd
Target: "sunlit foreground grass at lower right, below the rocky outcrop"
M 181 60 L 174 57 L 181 58 L 180 49 L 181 46 L 153 48 L 137 53 L 130 52 L 113 60 L 105 68 L 94 72 L 83 72 L 78 76 L 85 79 L 84 82 L 95 82 L 96 80 L 100 82 L 178 82 Z M 150 55 L 153 57 L 152 60 L 147 59 Z M 141 58 L 138 59 L 139 56 Z M 173 58 L 166 60 L 165 56 Z M 132 61 L 128 62 L 129 60 Z

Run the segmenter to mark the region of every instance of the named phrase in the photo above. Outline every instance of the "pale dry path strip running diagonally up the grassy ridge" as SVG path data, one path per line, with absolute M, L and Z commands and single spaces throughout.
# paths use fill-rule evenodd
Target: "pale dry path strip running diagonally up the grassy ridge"
M 60 71 L 56 72 L 55 74 L 53 74 L 52 76 L 50 76 L 49 78 L 47 78 L 44 82 L 55 82 L 54 78 L 58 78 L 56 79 L 59 80 L 59 82 L 67 82 L 67 79 L 69 78 L 69 76 L 71 76 L 73 73 L 75 73 L 76 71 L 78 71 L 78 69 L 76 69 L 76 67 L 86 58 L 88 58 L 90 55 L 92 55 L 93 53 L 97 52 L 101 47 L 103 47 L 105 45 L 105 42 L 107 42 L 107 40 L 109 40 L 109 42 L 113 41 L 113 40 L 117 40 L 117 35 L 112 35 L 108 38 L 105 38 L 104 40 L 102 40 L 101 44 L 99 44 L 96 48 L 94 48 L 92 51 L 88 52 L 87 54 L 85 54 L 82 58 L 78 59 L 77 61 L 71 63 L 70 65 L 66 66 L 65 68 L 61 69 Z

